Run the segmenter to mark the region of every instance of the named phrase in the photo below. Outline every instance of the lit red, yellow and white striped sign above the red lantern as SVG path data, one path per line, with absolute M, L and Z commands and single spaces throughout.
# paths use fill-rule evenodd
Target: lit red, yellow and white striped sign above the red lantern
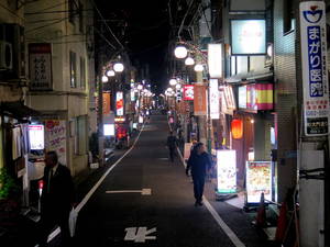
M 239 108 L 249 111 L 273 110 L 273 85 L 257 83 L 239 87 Z

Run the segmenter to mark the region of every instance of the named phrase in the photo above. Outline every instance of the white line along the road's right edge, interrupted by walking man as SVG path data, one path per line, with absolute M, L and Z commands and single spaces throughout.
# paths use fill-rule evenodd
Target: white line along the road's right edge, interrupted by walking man
M 179 148 L 177 148 L 177 151 L 180 156 L 180 159 L 183 161 L 184 167 L 187 167 L 186 161 L 184 160 L 184 157 L 182 155 L 182 151 Z M 215 210 L 215 207 L 211 205 L 211 203 L 207 200 L 206 197 L 202 197 L 204 202 L 208 211 L 211 213 L 218 225 L 222 228 L 222 231 L 227 234 L 227 236 L 230 238 L 230 240 L 234 244 L 235 247 L 245 247 L 245 245 L 239 239 L 239 237 L 232 232 L 232 229 L 224 223 L 224 221 L 220 217 L 218 212 Z

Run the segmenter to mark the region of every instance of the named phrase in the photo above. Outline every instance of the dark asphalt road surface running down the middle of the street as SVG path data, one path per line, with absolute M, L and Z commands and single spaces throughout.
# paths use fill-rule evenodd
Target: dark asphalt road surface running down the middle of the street
M 80 203 L 75 246 L 265 247 L 248 216 L 215 200 L 206 184 L 194 206 L 190 178 L 165 147 L 166 116 L 154 115 L 135 146 Z

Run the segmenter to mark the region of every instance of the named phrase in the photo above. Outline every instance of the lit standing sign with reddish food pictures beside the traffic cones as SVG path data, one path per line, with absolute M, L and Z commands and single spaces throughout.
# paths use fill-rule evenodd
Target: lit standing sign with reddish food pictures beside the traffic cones
M 272 201 L 272 161 L 246 161 L 246 203 L 260 203 L 261 194 Z

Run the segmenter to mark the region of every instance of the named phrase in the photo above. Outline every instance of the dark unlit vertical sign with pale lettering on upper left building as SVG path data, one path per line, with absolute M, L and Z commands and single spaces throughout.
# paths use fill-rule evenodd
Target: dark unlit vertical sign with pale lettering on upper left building
M 52 45 L 29 44 L 30 89 L 52 90 Z

